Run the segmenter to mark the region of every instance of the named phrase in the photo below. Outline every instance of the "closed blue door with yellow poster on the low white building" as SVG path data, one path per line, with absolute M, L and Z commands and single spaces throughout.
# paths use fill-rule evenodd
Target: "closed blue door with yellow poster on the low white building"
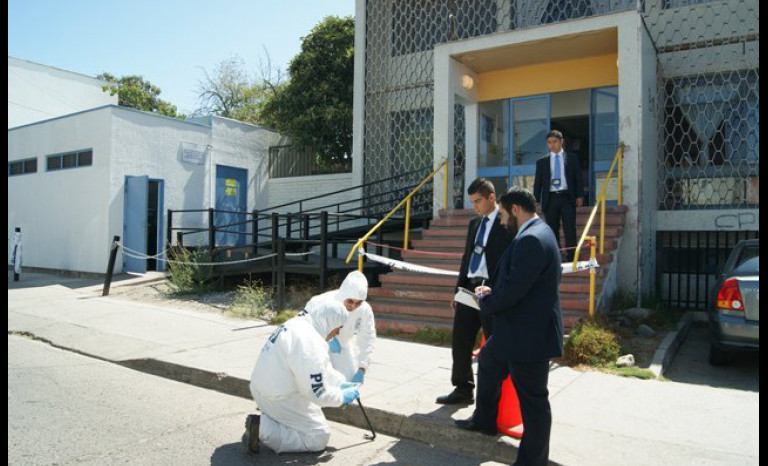
M 216 165 L 216 246 L 246 244 L 247 186 L 247 170 Z

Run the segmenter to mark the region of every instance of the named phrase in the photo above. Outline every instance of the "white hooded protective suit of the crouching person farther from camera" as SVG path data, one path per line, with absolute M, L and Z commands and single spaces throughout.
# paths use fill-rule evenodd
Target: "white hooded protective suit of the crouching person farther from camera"
M 347 322 L 337 337 L 341 343 L 341 353 L 331 353 L 334 369 L 344 374 L 347 380 L 351 380 L 361 367 L 367 371 L 373 356 L 376 323 L 373 320 L 373 309 L 365 301 L 367 297 L 368 280 L 365 275 L 355 270 L 347 275 L 338 290 L 315 296 L 305 307 L 307 312 L 312 314 L 328 301 L 342 305 L 345 299 L 363 301 L 357 309 L 348 312 Z

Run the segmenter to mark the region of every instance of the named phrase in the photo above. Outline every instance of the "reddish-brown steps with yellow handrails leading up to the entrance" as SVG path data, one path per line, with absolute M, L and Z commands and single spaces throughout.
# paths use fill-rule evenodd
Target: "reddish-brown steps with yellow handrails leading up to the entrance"
M 576 231 L 580 236 L 589 219 L 592 207 L 576 210 Z M 602 283 L 607 276 L 623 232 L 626 206 L 609 206 L 605 213 L 605 254 L 598 254 L 600 268 L 597 272 L 596 302 L 599 301 Z M 422 232 L 422 238 L 413 240 L 416 251 L 463 253 L 469 221 L 477 214 L 473 210 L 440 211 L 440 218 Z M 590 234 L 599 240 L 599 217 L 593 221 Z M 564 236 L 560 232 L 561 241 Z M 461 257 L 430 256 L 404 251 L 402 259 L 414 264 L 459 270 Z M 599 251 L 599 249 L 598 249 Z M 589 249 L 583 249 L 580 260 L 589 257 Z M 415 332 L 420 328 L 445 328 L 453 326 L 453 300 L 456 277 L 426 275 L 395 271 L 380 275 L 380 288 L 368 290 L 368 302 L 376 316 L 376 328 Z M 560 283 L 560 305 L 566 332 L 589 313 L 589 271 L 563 275 Z

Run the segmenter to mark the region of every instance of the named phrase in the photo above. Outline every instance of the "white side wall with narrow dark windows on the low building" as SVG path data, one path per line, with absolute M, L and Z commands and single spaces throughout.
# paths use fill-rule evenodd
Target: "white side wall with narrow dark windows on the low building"
M 110 109 L 8 131 L 8 160 L 36 157 L 37 173 L 8 177 L 8 237 L 21 228 L 23 265 L 101 272 L 111 242 Z M 90 167 L 46 171 L 46 156 L 92 149 Z

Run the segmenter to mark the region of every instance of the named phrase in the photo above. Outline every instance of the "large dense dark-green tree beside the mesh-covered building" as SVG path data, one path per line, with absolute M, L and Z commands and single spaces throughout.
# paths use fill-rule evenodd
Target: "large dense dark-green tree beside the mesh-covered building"
M 352 149 L 355 21 L 329 16 L 302 39 L 289 81 L 267 97 L 262 123 L 338 161 Z

